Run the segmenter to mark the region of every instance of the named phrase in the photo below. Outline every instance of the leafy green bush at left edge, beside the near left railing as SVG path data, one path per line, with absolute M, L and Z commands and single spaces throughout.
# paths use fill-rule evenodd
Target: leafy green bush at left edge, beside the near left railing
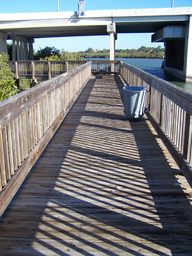
M 9 56 L 5 53 L 0 55 L 0 100 L 5 100 L 18 93 L 18 88 L 15 86 L 14 74 L 11 73 L 7 61 Z

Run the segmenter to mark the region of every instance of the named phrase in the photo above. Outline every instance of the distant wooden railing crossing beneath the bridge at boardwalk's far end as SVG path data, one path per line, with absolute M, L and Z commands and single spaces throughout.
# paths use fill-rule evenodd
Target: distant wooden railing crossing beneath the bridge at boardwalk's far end
M 87 61 L 8 61 L 11 72 L 15 73 L 16 79 L 51 79 L 62 73 L 72 70 Z M 92 73 L 117 73 L 120 61 L 93 60 L 91 64 Z

